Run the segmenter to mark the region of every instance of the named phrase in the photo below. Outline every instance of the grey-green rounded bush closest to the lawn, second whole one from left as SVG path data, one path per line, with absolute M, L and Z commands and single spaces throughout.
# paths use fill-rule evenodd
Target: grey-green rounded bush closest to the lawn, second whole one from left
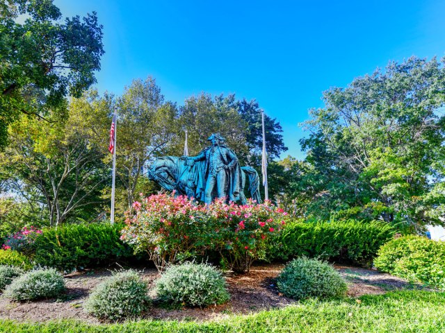
M 147 291 L 147 283 L 136 271 L 121 271 L 92 291 L 85 309 L 94 316 L 112 321 L 136 317 L 149 306 Z

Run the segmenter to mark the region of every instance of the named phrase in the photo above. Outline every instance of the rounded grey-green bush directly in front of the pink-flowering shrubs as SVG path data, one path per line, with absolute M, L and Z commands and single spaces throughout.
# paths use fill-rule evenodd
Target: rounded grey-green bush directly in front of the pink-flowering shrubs
M 223 304 L 230 298 L 216 268 L 192 262 L 169 266 L 156 282 L 156 293 L 164 302 L 191 307 Z

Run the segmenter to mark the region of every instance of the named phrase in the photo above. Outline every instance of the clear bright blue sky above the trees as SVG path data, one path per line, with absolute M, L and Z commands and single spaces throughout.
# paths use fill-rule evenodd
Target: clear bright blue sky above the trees
M 106 54 L 99 91 L 154 76 L 166 99 L 200 92 L 257 99 L 303 157 L 298 123 L 321 93 L 410 56 L 445 56 L 445 1 L 55 0 L 97 11 Z M 286 154 L 284 154 L 286 155 Z

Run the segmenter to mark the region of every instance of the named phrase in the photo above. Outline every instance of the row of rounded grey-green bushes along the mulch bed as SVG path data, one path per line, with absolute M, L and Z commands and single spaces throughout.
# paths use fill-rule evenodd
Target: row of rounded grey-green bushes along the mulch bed
M 316 259 L 295 259 L 280 274 L 277 286 L 295 298 L 343 296 L 346 283 L 332 266 Z M 0 266 L 0 291 L 13 300 L 55 298 L 66 290 L 63 276 L 54 268 L 24 273 L 20 268 Z M 207 307 L 227 302 L 230 295 L 223 274 L 209 264 L 186 262 L 168 266 L 156 282 L 157 298 L 168 305 Z M 114 273 L 97 285 L 84 309 L 111 321 L 136 318 L 151 303 L 147 282 L 133 270 Z

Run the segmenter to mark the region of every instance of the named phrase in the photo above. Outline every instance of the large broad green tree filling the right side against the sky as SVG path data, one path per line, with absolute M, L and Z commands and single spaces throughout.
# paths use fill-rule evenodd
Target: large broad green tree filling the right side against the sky
M 306 217 L 443 223 L 444 74 L 444 60 L 412 57 L 323 93 L 291 181 Z

